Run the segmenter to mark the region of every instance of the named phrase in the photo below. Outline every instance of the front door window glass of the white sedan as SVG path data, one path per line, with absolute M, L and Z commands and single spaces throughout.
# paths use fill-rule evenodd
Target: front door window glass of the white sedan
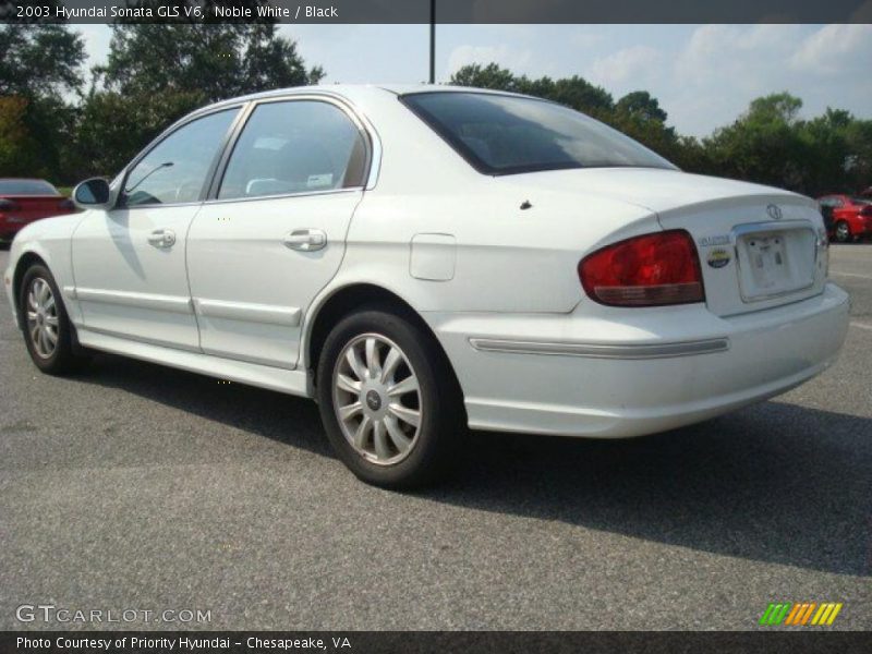
M 167 136 L 128 174 L 126 206 L 196 202 L 239 109 L 196 119 Z

